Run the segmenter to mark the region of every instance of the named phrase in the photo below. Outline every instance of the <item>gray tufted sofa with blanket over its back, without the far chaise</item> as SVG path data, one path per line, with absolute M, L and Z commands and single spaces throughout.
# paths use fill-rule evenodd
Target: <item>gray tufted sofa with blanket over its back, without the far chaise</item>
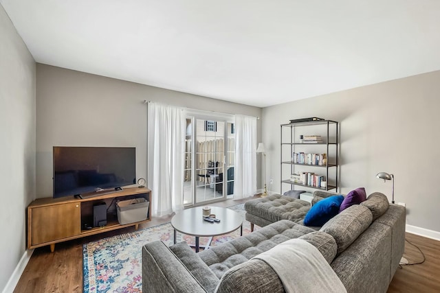
M 404 207 L 375 193 L 318 231 L 279 220 L 197 254 L 185 242 L 151 242 L 142 250 L 143 292 L 285 292 L 278 274 L 252 257 L 293 238 L 318 248 L 347 292 L 386 292 L 404 253 L 405 220 Z

